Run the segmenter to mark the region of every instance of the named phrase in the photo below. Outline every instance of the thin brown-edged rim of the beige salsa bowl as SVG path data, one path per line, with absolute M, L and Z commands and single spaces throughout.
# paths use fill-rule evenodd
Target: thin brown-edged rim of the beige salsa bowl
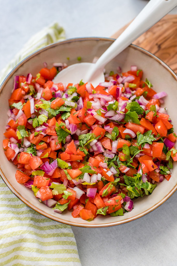
M 1 92 L 3 90 L 3 87 L 5 86 L 6 82 L 9 80 L 9 78 L 14 74 L 14 72 L 21 66 L 23 65 L 26 61 L 28 61 L 30 58 L 36 56 L 37 54 L 40 54 L 41 52 L 47 50 L 47 49 L 50 49 L 51 47 L 55 47 L 55 46 L 58 46 L 60 44 L 63 44 L 63 43 L 70 43 L 70 42 L 73 42 L 73 41 L 87 41 L 87 40 L 107 40 L 107 41 L 114 41 L 115 39 L 113 38 L 104 38 L 104 37 L 83 37 L 83 38 L 71 38 L 71 39 L 66 39 L 64 41 L 58 41 L 56 43 L 53 43 L 53 44 L 49 44 L 39 50 L 37 50 L 36 52 L 33 52 L 31 55 L 25 57 L 25 59 L 23 59 L 18 65 L 15 66 L 15 68 L 13 68 L 11 70 L 11 72 L 7 75 L 7 77 L 3 80 L 1 86 L 0 86 L 0 95 L 1 95 Z M 164 68 L 166 68 L 170 73 L 171 75 L 175 78 L 175 80 L 177 81 L 177 75 L 175 74 L 175 72 L 166 64 L 164 63 L 161 59 L 159 59 L 157 56 L 153 55 L 151 52 L 145 50 L 144 48 L 141 48 L 135 44 L 131 44 L 129 45 L 130 47 L 136 49 L 136 50 L 139 50 L 143 53 L 145 53 L 146 55 L 154 58 L 158 63 L 160 63 Z M 150 213 L 151 211 L 155 210 L 157 207 L 159 207 L 160 205 L 162 205 L 168 198 L 170 198 L 172 196 L 172 194 L 174 194 L 174 192 L 177 190 L 177 184 L 174 186 L 174 188 L 161 200 L 159 201 L 157 204 L 155 204 L 154 206 L 150 207 L 149 209 L 143 211 L 142 213 L 140 214 L 137 214 L 131 218 L 127 218 L 127 219 L 124 219 L 122 221 L 115 221 L 115 222 L 111 222 L 111 223 L 104 223 L 104 224 L 84 224 L 84 223 L 77 223 L 77 222 L 70 222 L 70 221 L 66 221 L 64 219 L 61 219 L 61 218 L 58 218 L 58 217 L 55 217 L 55 216 L 52 216 L 48 213 L 46 213 L 45 211 L 42 211 L 41 209 L 35 207 L 32 203 L 28 202 L 27 200 L 25 200 L 25 198 L 23 198 L 15 189 L 14 187 L 10 184 L 10 182 L 8 181 L 8 179 L 6 178 L 6 176 L 4 175 L 2 169 L 0 168 L 0 175 L 3 179 L 3 181 L 5 182 L 5 184 L 8 186 L 8 188 L 15 194 L 15 196 L 17 196 L 22 202 L 24 202 L 27 206 L 29 206 L 31 209 L 37 211 L 38 213 L 44 215 L 45 217 L 47 218 L 50 218 L 54 221 L 57 221 L 57 222 L 61 222 L 61 223 L 64 223 L 64 224 L 67 224 L 67 225 L 72 225 L 72 226 L 78 226 L 78 227 L 90 227 L 90 228 L 98 228 L 98 227 L 109 227 L 109 226 L 115 226 L 115 225 L 120 225 L 120 224 L 123 224 L 123 223 L 128 223 L 128 222 L 131 222 L 131 221 L 134 221 L 140 217 L 143 217 L 144 215 Z

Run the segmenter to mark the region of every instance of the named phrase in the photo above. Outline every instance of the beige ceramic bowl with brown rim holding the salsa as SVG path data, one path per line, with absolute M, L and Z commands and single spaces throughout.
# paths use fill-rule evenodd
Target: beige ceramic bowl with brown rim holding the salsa
M 172 177 L 169 181 L 163 180 L 157 185 L 156 189 L 149 196 L 138 198 L 134 201 L 134 209 L 124 216 L 111 217 L 98 215 L 91 222 L 81 218 L 73 218 L 71 211 L 64 211 L 62 214 L 55 213 L 53 209 L 40 203 L 34 197 L 31 189 L 19 184 L 15 179 L 16 166 L 8 161 L 2 148 L 3 133 L 7 123 L 8 98 L 10 98 L 13 88 L 15 75 L 27 75 L 29 72 L 35 75 L 43 67 L 43 62 L 47 62 L 51 67 L 54 62 L 67 62 L 68 64 L 77 63 L 77 57 L 81 57 L 82 62 L 92 62 L 95 56 L 100 56 L 114 41 L 109 38 L 79 38 L 62 41 L 49 45 L 24 59 L 17 65 L 3 82 L 0 90 L 0 174 L 12 190 L 29 207 L 49 217 L 55 221 L 66 223 L 68 225 L 81 227 L 106 227 L 120 225 L 133 221 L 143 215 L 153 211 L 163 202 L 165 202 L 177 189 L 177 164 L 174 163 Z M 67 61 L 67 57 L 70 58 Z M 121 66 L 122 71 L 126 72 L 131 65 L 137 65 L 138 69 L 143 69 L 143 78 L 148 78 L 153 84 L 153 89 L 157 92 L 166 91 L 168 96 L 165 98 L 164 107 L 167 107 L 168 114 L 174 125 L 174 131 L 177 132 L 176 99 L 177 99 L 177 76 L 175 73 L 156 56 L 135 45 L 130 45 L 109 64 L 106 65 L 106 71 L 116 71 L 117 66 Z

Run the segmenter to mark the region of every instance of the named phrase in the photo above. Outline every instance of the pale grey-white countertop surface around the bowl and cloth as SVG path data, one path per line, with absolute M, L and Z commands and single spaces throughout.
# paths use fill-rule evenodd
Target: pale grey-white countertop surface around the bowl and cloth
M 0 70 L 30 36 L 53 21 L 64 27 L 66 38 L 109 37 L 133 19 L 147 2 L 0 0 Z M 177 8 L 171 14 L 177 14 Z M 82 266 L 177 265 L 176 193 L 158 209 L 124 225 L 72 227 Z

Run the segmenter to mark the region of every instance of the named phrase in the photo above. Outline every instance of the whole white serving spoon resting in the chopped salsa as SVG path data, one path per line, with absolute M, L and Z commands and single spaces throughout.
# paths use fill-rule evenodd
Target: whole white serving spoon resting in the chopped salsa
M 177 0 L 150 0 L 126 30 L 100 56 L 96 63 L 85 62 L 70 65 L 60 71 L 53 81 L 55 83 L 62 82 L 68 84 L 72 82 L 77 84 L 83 80 L 83 82 L 91 82 L 93 86 L 97 86 L 105 80 L 103 74 L 105 65 L 175 6 L 177 6 Z

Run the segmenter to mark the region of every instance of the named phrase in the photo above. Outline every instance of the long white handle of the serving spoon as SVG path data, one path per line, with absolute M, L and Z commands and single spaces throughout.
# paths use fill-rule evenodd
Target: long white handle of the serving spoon
M 143 10 L 136 16 L 131 24 L 122 32 L 113 44 L 100 56 L 90 72 L 87 80 L 96 76 L 96 72 L 103 70 L 104 66 L 116 55 L 122 52 L 128 45 L 136 40 L 141 34 L 152 27 L 163 16 L 169 13 L 175 6 L 177 0 L 150 0 Z

